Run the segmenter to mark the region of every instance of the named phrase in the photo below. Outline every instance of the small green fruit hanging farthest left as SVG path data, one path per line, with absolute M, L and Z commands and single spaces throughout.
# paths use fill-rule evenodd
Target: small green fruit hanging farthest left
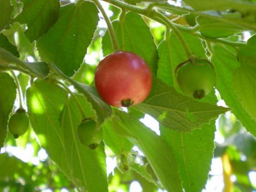
M 10 117 L 8 128 L 15 139 L 19 138 L 28 131 L 29 118 L 24 109 L 17 109 Z

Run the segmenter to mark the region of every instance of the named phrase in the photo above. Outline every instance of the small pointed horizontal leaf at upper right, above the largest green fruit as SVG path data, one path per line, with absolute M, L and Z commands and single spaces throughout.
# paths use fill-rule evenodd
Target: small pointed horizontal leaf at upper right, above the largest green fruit
M 236 24 L 229 24 L 220 20 L 218 17 L 207 18 L 200 16 L 196 18 L 198 24 L 200 24 L 200 32 L 202 35 L 209 38 L 220 38 L 243 31 L 244 28 L 237 26 Z

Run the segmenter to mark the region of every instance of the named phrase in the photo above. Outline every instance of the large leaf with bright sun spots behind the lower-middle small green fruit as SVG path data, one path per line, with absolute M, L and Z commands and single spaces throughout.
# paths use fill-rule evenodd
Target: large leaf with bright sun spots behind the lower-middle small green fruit
M 31 125 L 42 147 L 76 188 L 108 191 L 103 146 L 91 150 L 79 143 L 76 127 L 82 116 L 74 98 L 67 100 L 60 88 L 40 80 L 28 88 L 26 98 Z M 82 106 L 84 111 L 92 111 L 85 101 Z M 95 185 L 95 180 L 101 184 Z

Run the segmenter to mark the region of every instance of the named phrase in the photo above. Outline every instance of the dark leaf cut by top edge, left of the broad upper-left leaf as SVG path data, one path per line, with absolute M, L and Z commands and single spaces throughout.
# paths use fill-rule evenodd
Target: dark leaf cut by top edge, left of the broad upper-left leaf
M 22 0 L 22 12 L 13 21 L 27 24 L 25 35 L 30 42 L 44 35 L 60 13 L 59 0 Z

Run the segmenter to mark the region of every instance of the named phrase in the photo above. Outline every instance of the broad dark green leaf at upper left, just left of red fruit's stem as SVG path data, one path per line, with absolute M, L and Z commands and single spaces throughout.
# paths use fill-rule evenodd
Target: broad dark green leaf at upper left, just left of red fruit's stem
M 83 63 L 98 20 L 98 10 L 89 1 L 61 7 L 57 22 L 36 44 L 42 60 L 73 76 Z

